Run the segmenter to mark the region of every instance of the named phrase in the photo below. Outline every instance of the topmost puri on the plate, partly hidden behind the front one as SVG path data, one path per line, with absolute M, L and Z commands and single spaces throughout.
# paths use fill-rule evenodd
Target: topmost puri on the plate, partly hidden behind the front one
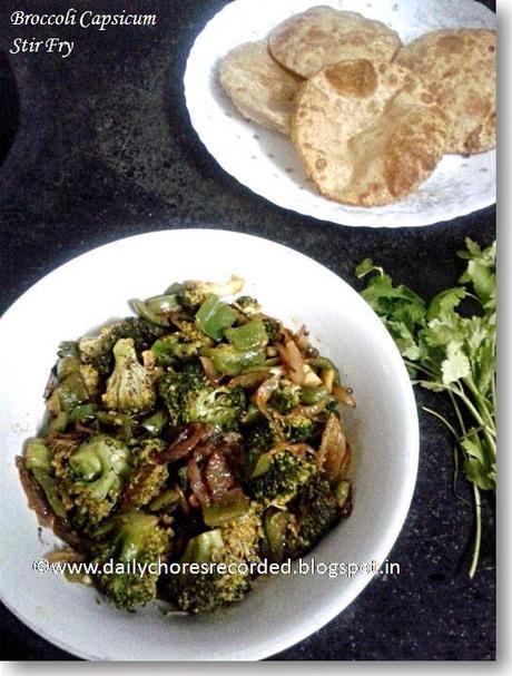
M 285 68 L 308 78 L 324 66 L 348 59 L 391 61 L 400 37 L 380 21 L 332 7 L 294 14 L 269 36 L 272 56 Z

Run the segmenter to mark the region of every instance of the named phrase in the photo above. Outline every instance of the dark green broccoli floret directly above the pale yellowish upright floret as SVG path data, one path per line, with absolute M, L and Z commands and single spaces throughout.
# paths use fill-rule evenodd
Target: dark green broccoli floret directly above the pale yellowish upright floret
M 101 329 L 97 335 L 83 336 L 78 342 L 80 359 L 92 364 L 101 375 L 114 368 L 114 345 L 120 339 L 132 339 L 137 352 L 147 350 L 165 330 L 139 317 L 127 317 Z

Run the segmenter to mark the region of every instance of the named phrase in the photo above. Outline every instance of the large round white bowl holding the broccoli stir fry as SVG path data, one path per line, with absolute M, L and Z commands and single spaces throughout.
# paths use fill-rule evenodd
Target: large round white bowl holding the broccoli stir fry
M 127 314 L 127 298 L 160 293 L 185 278 L 246 280 L 269 314 L 305 322 L 314 342 L 354 389 L 344 414 L 355 448 L 354 510 L 314 551 L 317 562 L 383 562 L 402 528 L 416 478 L 419 429 L 401 356 L 370 306 L 335 274 L 266 239 L 220 231 L 149 233 L 114 242 L 62 265 L 19 298 L 0 321 L 1 600 L 26 625 L 87 659 L 259 659 L 305 638 L 368 584 L 352 578 L 275 576 L 211 617 L 166 617 L 156 604 L 135 614 L 98 605 L 97 592 L 31 564 L 42 541 L 18 480 L 14 457 L 33 435 L 42 392 L 61 340 Z M 308 557 L 311 558 L 311 557 Z

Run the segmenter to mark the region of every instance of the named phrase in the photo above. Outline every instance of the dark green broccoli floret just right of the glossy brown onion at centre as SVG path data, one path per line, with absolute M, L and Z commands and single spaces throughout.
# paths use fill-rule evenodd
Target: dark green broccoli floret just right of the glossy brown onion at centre
M 278 451 L 268 458 L 268 469 L 253 478 L 253 494 L 264 504 L 286 504 L 315 473 L 315 463 L 309 457 Z

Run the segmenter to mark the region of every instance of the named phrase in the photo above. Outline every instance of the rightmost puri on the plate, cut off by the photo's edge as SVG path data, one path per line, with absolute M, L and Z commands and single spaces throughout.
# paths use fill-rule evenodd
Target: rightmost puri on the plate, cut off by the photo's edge
M 496 35 L 439 30 L 403 47 L 395 61 L 419 75 L 449 119 L 446 153 L 471 155 L 496 144 Z

